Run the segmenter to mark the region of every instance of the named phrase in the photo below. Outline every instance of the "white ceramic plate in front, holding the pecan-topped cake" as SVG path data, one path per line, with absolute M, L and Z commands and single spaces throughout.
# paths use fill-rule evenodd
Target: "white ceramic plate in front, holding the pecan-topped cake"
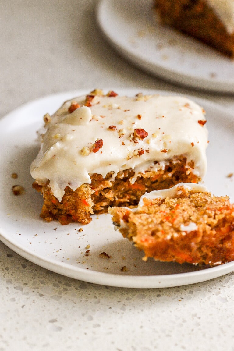
M 133 96 L 139 91 L 117 90 Z M 145 91 L 143 93 L 168 92 Z M 0 239 L 12 250 L 54 272 L 87 282 L 119 286 L 154 288 L 178 286 L 219 277 L 234 270 L 234 261 L 217 267 L 160 263 L 149 259 L 118 231 L 108 214 L 93 216 L 90 224 L 61 226 L 40 219 L 42 198 L 32 189 L 29 167 L 38 152 L 36 131 L 42 116 L 53 113 L 63 101 L 85 94 L 76 91 L 51 95 L 22 106 L 0 120 Z M 172 94 L 172 93 L 171 93 Z M 227 174 L 234 171 L 230 158 L 234 140 L 234 113 L 206 100 L 194 99 L 207 111 L 209 128 L 208 172 L 205 184 L 216 195 L 229 195 L 234 201 L 234 182 Z M 18 174 L 18 179 L 11 177 Z M 11 188 L 19 184 L 26 193 L 15 196 Z M 85 256 L 87 245 L 90 255 Z M 99 254 L 106 252 L 110 259 Z M 128 271 L 122 272 L 126 266 Z

